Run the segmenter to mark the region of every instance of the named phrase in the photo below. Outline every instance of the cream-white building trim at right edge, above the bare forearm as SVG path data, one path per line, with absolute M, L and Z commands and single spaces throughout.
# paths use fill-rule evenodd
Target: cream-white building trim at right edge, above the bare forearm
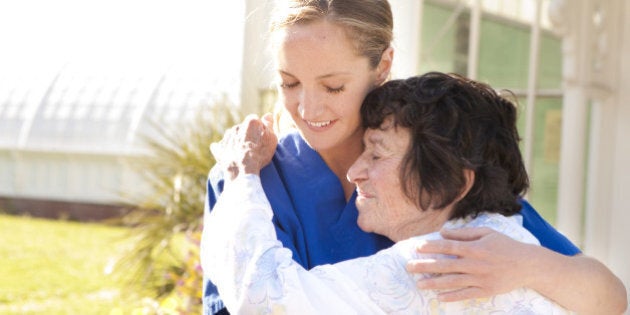
M 565 88 L 558 228 L 630 287 L 630 2 L 554 4 Z

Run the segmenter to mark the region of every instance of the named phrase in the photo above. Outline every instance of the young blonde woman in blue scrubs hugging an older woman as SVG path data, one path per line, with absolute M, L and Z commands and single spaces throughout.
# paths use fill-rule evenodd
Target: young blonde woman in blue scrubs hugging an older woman
M 276 234 L 306 269 L 371 255 L 393 243 L 359 229 L 354 185 L 345 176 L 363 150 L 361 103 L 386 81 L 393 62 L 391 9 L 385 0 L 294 0 L 280 9 L 272 22 L 279 96 L 298 132 L 280 137 L 272 163 L 260 174 Z M 222 191 L 222 177 L 219 168 L 211 170 L 206 216 Z M 444 300 L 526 286 L 579 313 L 622 312 L 627 302 L 621 281 L 601 263 L 578 255 L 522 202 L 524 227 L 559 254 L 483 229 L 465 236 L 445 232 L 451 240 L 422 250 L 460 259 L 410 261 L 412 272 L 444 274 L 419 285 L 447 289 L 440 295 Z M 207 313 L 223 309 L 211 282 L 204 304 Z

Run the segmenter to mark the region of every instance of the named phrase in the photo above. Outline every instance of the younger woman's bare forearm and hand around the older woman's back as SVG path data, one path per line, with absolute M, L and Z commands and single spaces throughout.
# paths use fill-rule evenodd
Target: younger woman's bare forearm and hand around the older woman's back
M 407 267 L 413 273 L 445 274 L 418 283 L 423 289 L 449 290 L 440 294 L 443 301 L 529 287 L 579 314 L 620 314 L 627 307 L 622 282 L 595 259 L 564 256 L 483 228 L 443 230 L 442 235 L 447 240 L 427 242 L 418 251 L 459 259 L 416 260 Z

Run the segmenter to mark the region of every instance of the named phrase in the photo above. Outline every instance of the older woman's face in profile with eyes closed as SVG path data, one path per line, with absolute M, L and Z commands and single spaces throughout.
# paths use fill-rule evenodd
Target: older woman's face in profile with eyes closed
M 409 129 L 393 127 L 391 119 L 381 127 L 365 131 L 365 149 L 348 171 L 348 180 L 357 186 L 357 224 L 393 241 L 437 231 L 447 221 L 448 211 L 421 211 L 418 202 L 405 195 L 400 181 L 411 143 Z

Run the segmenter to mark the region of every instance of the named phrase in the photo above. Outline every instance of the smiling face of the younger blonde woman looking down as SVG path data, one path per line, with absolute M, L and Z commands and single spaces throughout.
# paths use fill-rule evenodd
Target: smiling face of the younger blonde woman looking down
M 318 21 L 279 32 L 280 99 L 302 137 L 320 152 L 359 144 L 359 110 L 382 82 L 377 70 L 334 24 Z

